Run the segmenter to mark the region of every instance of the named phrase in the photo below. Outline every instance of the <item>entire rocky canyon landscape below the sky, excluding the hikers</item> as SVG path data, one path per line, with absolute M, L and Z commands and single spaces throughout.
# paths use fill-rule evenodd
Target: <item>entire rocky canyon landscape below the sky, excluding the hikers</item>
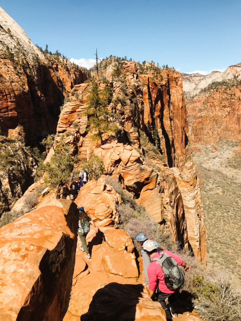
M 241 320 L 241 63 L 86 69 L 2 8 L 0 37 L 0 320 L 166 321 L 138 233 L 190 266 L 173 320 Z

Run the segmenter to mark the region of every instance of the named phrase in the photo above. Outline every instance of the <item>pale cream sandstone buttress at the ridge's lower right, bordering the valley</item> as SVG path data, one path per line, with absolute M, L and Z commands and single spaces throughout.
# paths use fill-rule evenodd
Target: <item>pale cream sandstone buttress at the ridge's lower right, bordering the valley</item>
M 194 255 L 206 264 L 207 247 L 200 180 L 196 176 L 196 169 L 193 167 L 192 162 L 185 164 L 182 173 L 177 168 L 172 168 L 172 170 L 183 198 L 189 245 Z

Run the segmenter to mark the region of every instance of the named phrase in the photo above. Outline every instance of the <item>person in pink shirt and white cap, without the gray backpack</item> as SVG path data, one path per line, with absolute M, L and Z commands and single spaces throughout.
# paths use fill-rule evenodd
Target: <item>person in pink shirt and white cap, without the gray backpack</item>
M 147 255 L 152 259 L 154 257 L 159 257 L 161 255 L 160 252 L 157 252 L 157 247 L 154 244 L 154 242 L 151 240 L 147 240 L 144 242 L 143 249 L 145 250 Z M 190 270 L 190 267 L 179 256 L 173 254 L 170 251 L 165 251 L 165 250 L 163 251 L 163 253 L 173 257 L 178 265 L 182 265 L 184 267 L 185 272 Z M 171 313 L 169 312 L 165 299 L 168 299 L 169 303 L 172 302 L 173 300 L 172 298 L 170 298 L 170 296 L 174 294 L 176 291 L 178 291 L 178 289 L 177 290 L 168 289 L 164 280 L 165 277 L 164 277 L 163 270 L 161 268 L 161 265 L 159 265 L 157 261 L 153 261 L 148 265 L 147 274 L 149 279 L 149 283 L 148 283 L 149 293 L 143 293 L 142 296 L 151 299 L 155 292 L 157 280 L 158 280 L 157 301 L 161 303 L 162 308 L 165 310 L 166 320 L 167 321 L 172 320 L 172 316 L 177 317 L 177 314 L 175 313 L 174 309 L 171 306 L 169 306 Z

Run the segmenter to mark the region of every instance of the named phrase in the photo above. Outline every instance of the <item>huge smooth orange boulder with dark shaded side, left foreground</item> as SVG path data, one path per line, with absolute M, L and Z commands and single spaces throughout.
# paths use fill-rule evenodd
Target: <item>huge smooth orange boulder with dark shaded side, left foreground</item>
M 0 229 L 0 319 L 62 320 L 75 264 L 76 205 L 60 200 Z

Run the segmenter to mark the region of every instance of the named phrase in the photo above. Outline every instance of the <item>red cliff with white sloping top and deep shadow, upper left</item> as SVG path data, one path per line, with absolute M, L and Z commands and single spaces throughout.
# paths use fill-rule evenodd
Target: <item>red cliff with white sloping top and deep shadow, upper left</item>
M 64 87 L 87 79 L 60 56 L 36 48 L 24 30 L 0 8 L 0 127 L 27 145 L 55 133 Z

